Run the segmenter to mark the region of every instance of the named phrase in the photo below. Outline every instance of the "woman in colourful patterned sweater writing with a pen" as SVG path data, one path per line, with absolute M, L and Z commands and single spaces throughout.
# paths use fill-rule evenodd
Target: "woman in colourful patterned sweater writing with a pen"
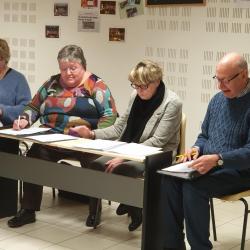
M 43 84 L 13 128 L 26 128 L 38 119 L 43 127 L 64 134 L 80 125 L 91 129 L 112 125 L 117 116 L 114 99 L 103 80 L 86 70 L 82 49 L 67 45 L 59 51 L 57 60 L 60 74 Z M 27 156 L 54 162 L 70 156 L 83 166 L 95 157 L 39 144 L 33 144 Z M 24 183 L 23 188 L 21 209 L 8 221 L 10 227 L 35 222 L 35 211 L 40 210 L 42 186 Z

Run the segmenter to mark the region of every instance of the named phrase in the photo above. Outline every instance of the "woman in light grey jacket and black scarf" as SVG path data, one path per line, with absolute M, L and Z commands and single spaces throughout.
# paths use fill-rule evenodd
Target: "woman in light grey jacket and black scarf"
M 108 128 L 91 131 L 86 126 L 80 126 L 71 130 L 85 138 L 141 143 L 173 151 L 175 155 L 179 144 L 182 104 L 179 97 L 165 86 L 162 77 L 162 69 L 157 63 L 150 60 L 139 62 L 128 77 L 134 91 L 125 114 Z M 144 163 L 106 156 L 94 160 L 90 168 L 131 177 L 142 177 L 144 173 Z M 89 227 L 100 223 L 101 207 L 96 217 L 97 201 L 90 198 L 86 221 Z M 131 216 L 129 231 L 134 231 L 142 223 L 140 208 L 120 204 L 116 213 Z

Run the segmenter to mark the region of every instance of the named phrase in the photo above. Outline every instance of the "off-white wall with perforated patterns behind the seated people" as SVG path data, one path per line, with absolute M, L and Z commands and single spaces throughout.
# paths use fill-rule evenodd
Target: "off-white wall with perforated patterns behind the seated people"
M 249 62 L 250 4 L 207 0 L 206 6 L 162 6 L 144 15 L 120 19 L 101 15 L 100 31 L 78 32 L 80 0 L 0 0 L 0 37 L 9 41 L 11 66 L 23 72 L 32 93 L 58 72 L 56 56 L 66 44 L 82 46 L 87 67 L 109 85 L 122 113 L 131 92 L 127 75 L 141 59 L 159 62 L 165 83 L 183 100 L 187 146 L 192 145 L 210 98 L 212 76 L 221 56 L 237 51 Z M 55 2 L 69 3 L 69 16 L 54 16 Z M 60 38 L 45 38 L 45 25 L 59 25 Z M 126 28 L 125 42 L 109 42 L 109 27 Z

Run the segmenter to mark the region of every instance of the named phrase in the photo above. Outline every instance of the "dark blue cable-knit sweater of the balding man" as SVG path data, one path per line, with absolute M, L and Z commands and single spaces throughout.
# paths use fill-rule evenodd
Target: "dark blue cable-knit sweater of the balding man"
M 225 168 L 250 172 L 250 92 L 232 99 L 216 94 L 195 146 L 201 155 L 221 154 Z

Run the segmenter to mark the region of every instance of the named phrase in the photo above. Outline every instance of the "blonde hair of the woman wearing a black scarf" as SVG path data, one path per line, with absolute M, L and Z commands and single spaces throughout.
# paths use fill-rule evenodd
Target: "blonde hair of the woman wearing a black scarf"
M 130 72 L 128 80 L 137 85 L 147 85 L 151 82 L 162 80 L 161 67 L 150 60 L 142 60 Z

